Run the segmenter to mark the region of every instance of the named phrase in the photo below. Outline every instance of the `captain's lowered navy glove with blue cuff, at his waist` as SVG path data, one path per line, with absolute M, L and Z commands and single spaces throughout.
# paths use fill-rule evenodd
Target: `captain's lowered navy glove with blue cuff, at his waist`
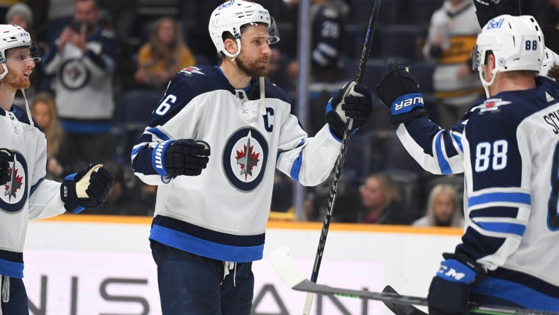
M 197 176 L 209 162 L 210 147 L 201 140 L 167 140 L 153 150 L 153 168 L 165 177 Z

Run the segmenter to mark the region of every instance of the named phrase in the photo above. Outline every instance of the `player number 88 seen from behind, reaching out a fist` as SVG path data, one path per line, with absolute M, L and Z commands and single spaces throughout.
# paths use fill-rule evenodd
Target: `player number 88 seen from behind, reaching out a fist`
M 467 314 L 468 299 L 559 311 L 559 86 L 536 77 L 543 48 L 533 17 L 489 21 L 474 56 L 487 99 L 451 131 L 426 118 L 403 65 L 377 86 L 415 160 L 435 174 L 465 173 L 463 243 L 443 255 L 429 314 Z

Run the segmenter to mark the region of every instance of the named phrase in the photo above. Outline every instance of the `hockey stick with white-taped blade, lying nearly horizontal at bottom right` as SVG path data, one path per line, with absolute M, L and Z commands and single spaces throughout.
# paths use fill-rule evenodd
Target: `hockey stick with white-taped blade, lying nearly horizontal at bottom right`
M 316 284 L 309 281 L 301 273 L 295 260 L 289 255 L 289 248 L 282 246 L 277 248 L 270 254 L 272 266 L 283 282 L 294 290 L 302 292 L 312 292 L 325 295 L 333 295 L 336 297 L 353 297 L 355 299 L 374 299 L 382 302 L 390 302 L 397 304 L 416 304 L 427 306 L 427 299 L 424 297 L 409 297 L 390 292 L 370 292 L 367 290 L 343 289 L 339 287 L 330 287 L 323 284 Z M 559 315 L 555 311 L 536 311 L 531 309 L 520 309 L 508 306 L 492 306 L 485 304 L 468 303 L 470 313 L 490 314 L 490 315 Z M 418 314 L 414 314 L 418 315 Z

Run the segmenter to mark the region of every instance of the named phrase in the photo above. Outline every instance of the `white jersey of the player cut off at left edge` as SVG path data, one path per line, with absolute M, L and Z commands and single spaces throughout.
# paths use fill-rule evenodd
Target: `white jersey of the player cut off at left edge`
M 60 183 L 44 179 L 47 140 L 17 106 L 0 109 L 0 148 L 11 150 L 11 181 L 0 186 L 0 275 L 23 277 L 27 222 L 65 212 Z

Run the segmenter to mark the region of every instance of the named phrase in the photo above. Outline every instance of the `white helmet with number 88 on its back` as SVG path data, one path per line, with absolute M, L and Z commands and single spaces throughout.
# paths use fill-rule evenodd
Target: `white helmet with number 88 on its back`
M 543 33 L 533 16 L 504 14 L 489 21 L 477 35 L 472 57 L 487 97 L 488 87 L 493 84 L 497 72 L 532 70 L 537 74 L 543 62 L 544 47 Z M 487 82 L 483 77 L 483 65 L 489 51 L 495 56 L 495 68 L 493 78 Z

